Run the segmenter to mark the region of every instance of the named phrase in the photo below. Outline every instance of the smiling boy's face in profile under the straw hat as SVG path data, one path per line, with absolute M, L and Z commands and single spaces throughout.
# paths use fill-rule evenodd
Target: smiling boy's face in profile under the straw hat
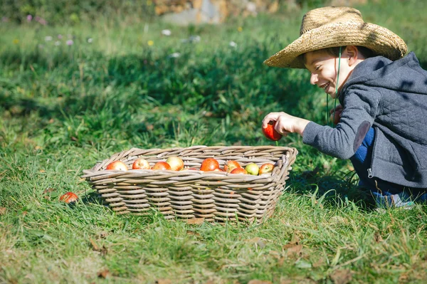
M 342 53 L 341 66 L 339 68 L 339 82 L 337 84 L 338 61 L 339 58 L 334 57 L 326 51 L 310 51 L 305 53 L 305 67 L 310 71 L 310 83 L 317 85 L 325 90 L 332 98 L 336 98 L 335 88 L 338 85 L 338 93 L 342 85 L 347 81 L 348 76 L 352 73 L 353 64 L 349 64 L 346 50 Z

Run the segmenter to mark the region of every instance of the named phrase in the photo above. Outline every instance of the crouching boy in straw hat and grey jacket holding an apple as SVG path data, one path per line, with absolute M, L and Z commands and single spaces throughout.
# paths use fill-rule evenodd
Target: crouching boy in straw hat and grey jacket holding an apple
M 339 100 L 339 122 L 332 128 L 271 112 L 263 127 L 276 121 L 280 134 L 297 132 L 320 152 L 350 159 L 379 206 L 426 201 L 427 71 L 406 51 L 399 36 L 365 23 L 357 9 L 309 11 L 300 38 L 265 64 L 307 68 L 310 83 Z

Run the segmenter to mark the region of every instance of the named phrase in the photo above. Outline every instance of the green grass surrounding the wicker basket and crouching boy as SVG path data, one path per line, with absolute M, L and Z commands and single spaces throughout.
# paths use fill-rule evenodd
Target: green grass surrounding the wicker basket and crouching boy
M 403 36 L 426 67 L 424 7 L 359 9 Z M 305 11 L 189 28 L 1 23 L 0 282 L 423 283 L 426 206 L 372 210 L 348 161 L 296 135 L 279 142 L 300 154 L 261 225 L 189 225 L 154 211 L 116 216 L 80 179 L 131 147 L 272 144 L 259 130 L 271 111 L 325 124 L 325 95 L 307 73 L 262 65 L 297 37 Z M 172 36 L 161 36 L 164 28 Z M 70 34 L 73 46 L 55 46 L 58 34 Z M 193 35 L 201 41 L 181 41 Z M 58 202 L 66 191 L 78 204 Z

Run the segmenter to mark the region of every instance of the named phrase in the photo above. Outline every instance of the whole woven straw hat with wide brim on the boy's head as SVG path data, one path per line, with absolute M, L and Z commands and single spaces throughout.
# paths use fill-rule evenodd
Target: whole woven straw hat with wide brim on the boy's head
M 359 10 L 351 7 L 323 7 L 302 18 L 300 37 L 275 53 L 264 64 L 284 68 L 305 68 L 300 54 L 335 46 L 365 46 L 392 61 L 405 56 L 403 39 L 374 23 L 365 23 Z

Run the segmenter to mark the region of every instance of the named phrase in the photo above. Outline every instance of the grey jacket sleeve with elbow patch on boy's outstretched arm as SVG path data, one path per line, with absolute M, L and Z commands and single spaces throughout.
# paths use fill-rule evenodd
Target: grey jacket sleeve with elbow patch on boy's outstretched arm
M 381 94 L 369 86 L 353 85 L 343 95 L 344 110 L 337 127 L 309 122 L 302 133 L 302 142 L 332 157 L 349 159 L 379 113 Z

